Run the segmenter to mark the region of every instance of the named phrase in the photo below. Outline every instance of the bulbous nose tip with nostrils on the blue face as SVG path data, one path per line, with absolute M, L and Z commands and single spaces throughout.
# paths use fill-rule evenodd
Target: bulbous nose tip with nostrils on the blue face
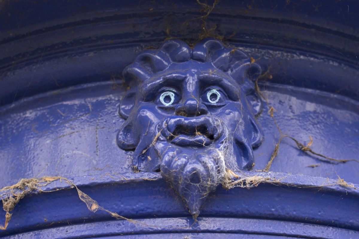
M 204 104 L 201 104 L 196 98 L 189 98 L 183 104 L 178 104 L 175 109 L 176 115 L 186 117 L 196 117 L 203 114 L 208 114 L 208 109 Z

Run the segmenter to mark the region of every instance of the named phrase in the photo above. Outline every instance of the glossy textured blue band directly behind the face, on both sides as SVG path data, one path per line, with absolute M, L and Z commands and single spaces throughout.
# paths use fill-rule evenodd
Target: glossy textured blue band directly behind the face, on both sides
M 109 82 L 49 94 L 40 101 L 47 106 L 26 110 L 39 103 L 38 99 L 33 99 L 22 103 L 22 112 L 1 116 L 1 187 L 15 184 L 19 178 L 130 172 L 132 151 L 123 151 L 116 144 L 116 134 L 123 123 L 118 106 L 125 89 L 111 89 L 111 85 L 113 83 Z M 337 99 L 331 94 L 318 97 L 318 92 L 296 88 L 262 88 L 268 89 L 264 93 L 278 111 L 275 117 L 285 133 L 303 143 L 309 142 L 310 135 L 312 148 L 327 156 L 357 158 L 359 115 L 358 111 L 347 108 L 356 108 L 358 103 L 346 98 Z M 86 94 L 84 97 L 83 92 L 96 92 L 94 89 L 99 96 Z M 265 167 L 278 141 L 279 132 L 267 111 L 265 105 L 258 117 L 266 137 L 263 145 L 254 151 L 255 166 L 252 170 Z M 320 166 L 313 168 L 309 165 Z M 299 151 L 290 139 L 283 141 L 271 171 L 331 179 L 339 176 L 359 184 L 357 162 L 323 162 Z

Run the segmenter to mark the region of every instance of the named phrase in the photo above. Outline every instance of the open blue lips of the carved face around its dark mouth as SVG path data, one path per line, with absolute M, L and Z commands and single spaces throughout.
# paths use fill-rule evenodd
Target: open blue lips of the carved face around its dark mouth
M 222 136 L 222 124 L 217 116 L 169 117 L 162 124 L 161 135 L 178 146 L 205 147 Z

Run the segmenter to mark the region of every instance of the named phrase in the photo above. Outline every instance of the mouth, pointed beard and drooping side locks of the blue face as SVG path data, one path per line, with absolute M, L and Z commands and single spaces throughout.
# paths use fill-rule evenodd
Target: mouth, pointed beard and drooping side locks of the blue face
M 161 172 L 194 218 L 225 183 L 227 170 L 241 170 L 239 163 L 253 159 L 250 140 L 239 130 L 245 127 L 230 132 L 217 116 L 170 116 L 149 127 L 134 152 L 134 171 Z

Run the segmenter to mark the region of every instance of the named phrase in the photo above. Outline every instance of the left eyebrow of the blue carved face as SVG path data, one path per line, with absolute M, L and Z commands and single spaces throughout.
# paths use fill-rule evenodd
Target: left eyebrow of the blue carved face
M 150 100 L 149 95 L 157 93 L 162 87 L 175 84 L 180 86 L 182 82 L 186 79 L 186 75 L 181 74 L 172 74 L 165 77 L 156 79 L 155 81 L 149 82 L 143 88 L 143 101 Z M 144 82 L 146 83 L 146 81 Z

